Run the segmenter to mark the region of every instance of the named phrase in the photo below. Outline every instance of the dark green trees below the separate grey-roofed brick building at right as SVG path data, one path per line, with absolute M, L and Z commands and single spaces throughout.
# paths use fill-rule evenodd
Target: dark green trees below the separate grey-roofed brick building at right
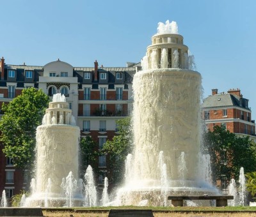
M 256 166 L 255 142 L 250 137 L 237 137 L 225 128 L 214 126 L 204 134 L 205 153 L 211 156 L 212 179 L 238 179 L 241 167 L 252 172 Z

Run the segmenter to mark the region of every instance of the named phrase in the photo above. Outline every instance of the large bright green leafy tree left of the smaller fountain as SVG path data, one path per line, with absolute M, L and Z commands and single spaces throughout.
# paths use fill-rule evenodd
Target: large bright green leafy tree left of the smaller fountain
M 17 167 L 24 167 L 34 160 L 36 127 L 42 123 L 49 103 L 42 89 L 23 89 L 22 94 L 8 105 L 2 105 L 4 115 L 0 121 L 3 153 L 13 158 Z

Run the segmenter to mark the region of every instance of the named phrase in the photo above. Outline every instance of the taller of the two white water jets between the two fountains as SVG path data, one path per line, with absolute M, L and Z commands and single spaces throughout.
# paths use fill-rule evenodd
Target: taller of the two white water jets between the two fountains
M 97 191 L 94 184 L 93 170 L 89 165 L 84 174 L 84 206 L 96 206 Z

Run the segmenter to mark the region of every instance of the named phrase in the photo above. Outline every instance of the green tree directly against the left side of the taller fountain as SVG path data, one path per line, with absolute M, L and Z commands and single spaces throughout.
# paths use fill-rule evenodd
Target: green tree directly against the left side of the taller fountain
M 124 177 L 124 166 L 127 154 L 132 153 L 131 118 L 119 119 L 117 122 L 118 135 L 113 140 L 107 140 L 102 154 L 108 154 L 108 166 L 111 177 L 109 182 L 118 184 Z

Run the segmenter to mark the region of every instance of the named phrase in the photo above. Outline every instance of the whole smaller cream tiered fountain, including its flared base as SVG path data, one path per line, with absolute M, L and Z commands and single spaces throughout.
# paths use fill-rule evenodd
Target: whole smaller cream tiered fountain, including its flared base
M 68 197 L 81 205 L 76 181 L 80 130 L 75 125 L 65 96 L 54 94 L 42 125 L 36 128 L 35 179 L 27 206 L 67 206 Z

